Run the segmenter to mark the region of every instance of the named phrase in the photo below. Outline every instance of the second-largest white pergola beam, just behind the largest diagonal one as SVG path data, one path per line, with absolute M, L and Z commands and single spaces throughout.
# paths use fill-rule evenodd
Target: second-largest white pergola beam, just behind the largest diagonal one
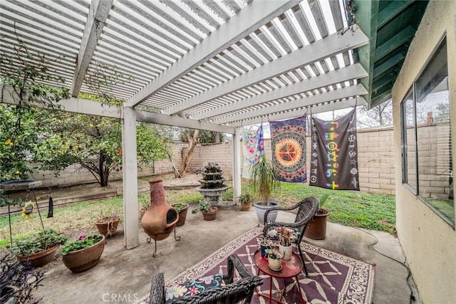
M 304 65 L 322 61 L 338 53 L 364 46 L 368 42 L 368 37 L 360 29 L 353 32 L 346 31 L 343 35 L 341 33 L 333 33 L 326 38 L 315 41 L 275 61 L 261 65 L 254 70 L 250 70 L 247 73 L 217 85 L 217 87 L 204 91 L 194 98 L 184 100 L 177 105 L 163 110 L 162 113 L 172 115 L 182 110 L 187 110 L 206 101 L 219 98 L 242 88 L 247 88 L 249 85 L 254 85 L 262 80 L 273 78 L 291 70 L 296 70 L 296 68 L 301 68 Z

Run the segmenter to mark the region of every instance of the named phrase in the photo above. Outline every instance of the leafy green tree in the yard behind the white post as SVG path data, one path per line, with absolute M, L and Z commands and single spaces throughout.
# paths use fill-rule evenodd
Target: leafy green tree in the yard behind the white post
M 119 119 L 61 112 L 48 121 L 50 131 L 36 145 L 41 169 L 60 172 L 71 164 L 87 169 L 101 187 L 110 173 L 122 169 L 122 129 Z M 155 125 L 138 122 L 138 164 L 150 167 L 165 159 L 169 148 Z

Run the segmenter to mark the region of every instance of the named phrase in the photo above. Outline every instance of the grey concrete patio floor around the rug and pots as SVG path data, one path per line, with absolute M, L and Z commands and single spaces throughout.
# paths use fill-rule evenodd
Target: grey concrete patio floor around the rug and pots
M 165 189 L 192 187 L 195 178 L 165 179 Z M 121 194 L 121 182 L 110 182 L 110 188 Z M 147 182 L 138 179 L 138 191 L 147 191 Z M 198 186 L 198 183 L 195 187 Z M 99 192 L 95 185 L 76 187 L 77 193 L 90 195 Z M 69 189 L 53 191 L 54 200 L 64 199 L 63 196 L 73 195 Z M 73 199 L 76 200 L 76 196 Z M 279 220 L 293 221 L 294 214 L 279 213 Z M 103 256 L 97 266 L 83 273 L 72 273 L 63 265 L 60 255 L 56 260 L 44 266 L 46 278 L 43 286 L 36 290 L 36 298 L 41 303 L 134 303 L 135 300 L 149 293 L 150 278 L 153 273 L 165 273 L 165 281 L 177 276 L 190 266 L 217 251 L 232 239 L 244 234 L 257 226 L 258 220 L 254 209 L 240 211 L 228 207 L 221 208 L 215 221 L 204 221 L 201 214 L 191 214 L 189 210 L 184 226 L 177 227 L 175 241 L 172 235 L 157 242 L 157 256 L 152 257 L 154 243 L 147 243 L 147 234 L 140 227 L 140 246 L 126 250 L 123 239 L 123 224 L 109 238 Z M 139 222 L 138 225 L 140 226 Z M 306 239 L 306 242 L 321 246 L 351 258 L 367 263 L 375 263 L 375 286 L 373 303 L 410 303 L 410 283 L 415 303 L 420 303 L 413 278 L 408 279 L 408 270 L 400 262 L 405 261 L 400 243 L 395 236 L 380 231 L 363 231 L 352 227 L 328 223 L 326 239 L 321 241 Z M 377 243 L 375 243 L 377 242 Z M 387 258 L 380 253 L 389 256 Z

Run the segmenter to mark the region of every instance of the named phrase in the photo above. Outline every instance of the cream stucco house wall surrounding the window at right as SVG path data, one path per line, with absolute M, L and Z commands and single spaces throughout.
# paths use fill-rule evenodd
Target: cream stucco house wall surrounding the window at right
M 402 184 L 400 102 L 447 37 L 452 159 L 456 159 L 456 1 L 430 1 L 393 87 L 396 227 L 423 303 L 456 303 L 456 231 Z

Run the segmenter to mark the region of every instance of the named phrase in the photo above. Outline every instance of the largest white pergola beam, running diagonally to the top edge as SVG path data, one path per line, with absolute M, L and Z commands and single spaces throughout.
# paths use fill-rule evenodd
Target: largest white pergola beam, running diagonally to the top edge
M 130 98 L 127 105 L 135 107 L 143 100 L 150 98 L 170 83 L 194 70 L 202 63 L 216 56 L 233 43 L 241 40 L 252 31 L 263 26 L 284 11 L 299 4 L 299 1 L 252 1 L 235 16 L 223 23 L 216 31 L 197 44 L 186 53 L 179 61 L 160 74 L 155 80 L 145 85 L 142 90 Z

